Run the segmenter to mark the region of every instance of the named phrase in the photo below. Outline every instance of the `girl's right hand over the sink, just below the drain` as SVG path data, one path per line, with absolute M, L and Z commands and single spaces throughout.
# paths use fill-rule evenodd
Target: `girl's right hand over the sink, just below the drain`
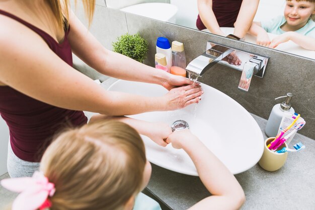
M 175 130 L 167 139 L 166 143 L 172 143 L 175 149 L 183 149 L 185 145 L 192 141 L 198 141 L 198 138 L 190 132 L 188 128 L 183 130 Z

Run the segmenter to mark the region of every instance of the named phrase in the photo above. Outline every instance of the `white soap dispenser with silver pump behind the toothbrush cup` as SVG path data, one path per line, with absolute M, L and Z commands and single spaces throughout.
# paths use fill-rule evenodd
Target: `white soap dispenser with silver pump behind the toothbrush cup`
M 291 112 L 292 114 L 294 113 L 294 109 L 291 107 L 290 104 L 292 97 L 292 93 L 287 93 L 286 96 L 275 98 L 275 100 L 285 98 L 285 101 L 283 101 L 281 104 L 274 105 L 271 110 L 265 129 L 268 137 L 275 137 L 278 134 L 279 126 L 284 112 Z

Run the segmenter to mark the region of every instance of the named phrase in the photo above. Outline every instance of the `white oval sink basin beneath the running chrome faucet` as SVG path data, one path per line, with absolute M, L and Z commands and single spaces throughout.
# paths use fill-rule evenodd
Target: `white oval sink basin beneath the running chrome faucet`
M 238 102 L 224 93 L 201 83 L 204 90 L 199 104 L 184 109 L 164 112 L 147 112 L 129 117 L 167 122 L 185 120 L 189 129 L 206 145 L 233 174 L 253 167 L 264 150 L 262 131 L 252 115 Z M 143 96 L 163 96 L 162 86 L 118 80 L 108 89 Z M 183 174 L 198 176 L 197 170 L 184 150 L 171 145 L 161 147 L 146 136 L 141 136 L 146 157 L 151 163 Z

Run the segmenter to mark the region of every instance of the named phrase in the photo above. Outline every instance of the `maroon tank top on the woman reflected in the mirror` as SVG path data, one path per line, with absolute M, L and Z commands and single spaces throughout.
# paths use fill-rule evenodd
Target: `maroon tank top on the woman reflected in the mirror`
M 234 27 L 243 0 L 213 0 L 212 11 L 220 27 Z M 206 29 L 198 15 L 196 26 L 199 30 Z

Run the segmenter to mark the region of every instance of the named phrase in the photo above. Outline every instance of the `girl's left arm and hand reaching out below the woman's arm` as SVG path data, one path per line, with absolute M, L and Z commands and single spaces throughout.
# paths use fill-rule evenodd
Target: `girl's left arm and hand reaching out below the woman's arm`
M 103 114 L 95 114 L 91 117 L 89 123 L 107 119 L 118 120 L 130 125 L 136 129 L 138 133 L 149 137 L 153 142 L 162 147 L 166 147 L 168 145 L 164 140 L 172 133 L 172 128 L 167 123 L 147 122 L 125 116 L 107 116 Z

